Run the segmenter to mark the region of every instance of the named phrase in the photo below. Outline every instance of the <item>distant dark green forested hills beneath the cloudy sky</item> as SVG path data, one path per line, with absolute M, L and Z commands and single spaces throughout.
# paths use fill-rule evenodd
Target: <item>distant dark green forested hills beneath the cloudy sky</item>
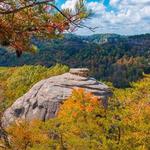
M 150 73 L 150 34 L 121 36 L 100 34 L 77 36 L 67 34 L 63 39 L 39 41 L 33 39 L 36 54 L 15 53 L 0 49 L 0 66 L 44 65 L 56 63 L 70 67 L 88 67 L 98 80 L 110 81 L 115 87 L 129 87 L 129 82 Z

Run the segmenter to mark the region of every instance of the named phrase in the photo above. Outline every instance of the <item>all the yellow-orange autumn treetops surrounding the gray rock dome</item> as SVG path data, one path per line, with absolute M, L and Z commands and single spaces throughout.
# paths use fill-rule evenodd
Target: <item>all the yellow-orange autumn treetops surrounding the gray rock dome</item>
M 56 65 L 0 68 L 1 111 L 37 81 L 68 71 Z M 6 128 L 12 150 L 148 150 L 150 149 L 150 75 L 131 88 L 112 87 L 107 110 L 84 89 L 74 90 L 56 118 L 45 122 L 19 121 Z M 3 139 L 3 138 L 2 138 Z M 0 139 L 0 146 L 7 145 Z

